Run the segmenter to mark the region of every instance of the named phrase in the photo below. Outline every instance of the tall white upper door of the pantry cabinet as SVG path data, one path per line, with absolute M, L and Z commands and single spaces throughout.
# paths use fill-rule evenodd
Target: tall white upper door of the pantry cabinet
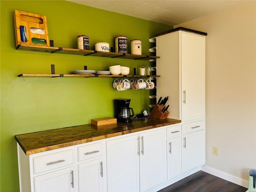
M 182 121 L 204 118 L 205 38 L 180 32 Z

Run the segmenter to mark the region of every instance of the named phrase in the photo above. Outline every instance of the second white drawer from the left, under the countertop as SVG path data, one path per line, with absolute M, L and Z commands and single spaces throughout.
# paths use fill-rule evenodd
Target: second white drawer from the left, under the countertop
M 78 147 L 78 160 L 86 160 L 94 157 L 102 156 L 102 143 Z

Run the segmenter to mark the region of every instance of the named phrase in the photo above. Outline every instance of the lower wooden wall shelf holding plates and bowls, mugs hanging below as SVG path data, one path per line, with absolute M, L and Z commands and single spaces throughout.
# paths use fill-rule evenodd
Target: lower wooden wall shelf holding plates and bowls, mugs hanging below
M 140 75 L 97 75 L 97 74 L 20 74 L 18 77 L 136 77 L 149 78 L 160 77 L 160 75 L 140 76 Z

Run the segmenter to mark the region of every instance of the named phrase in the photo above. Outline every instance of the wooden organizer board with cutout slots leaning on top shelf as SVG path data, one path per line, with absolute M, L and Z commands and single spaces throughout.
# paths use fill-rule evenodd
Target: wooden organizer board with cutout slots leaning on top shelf
M 27 42 L 22 42 L 20 36 L 20 26 L 26 27 Z M 45 34 L 33 33 L 30 31 L 31 28 L 38 28 L 45 31 Z M 28 13 L 24 11 L 14 11 L 14 31 L 16 46 L 20 44 L 24 45 L 38 45 L 38 46 L 50 46 L 46 16 Z M 46 40 L 46 44 L 34 44 L 32 38 L 39 38 Z

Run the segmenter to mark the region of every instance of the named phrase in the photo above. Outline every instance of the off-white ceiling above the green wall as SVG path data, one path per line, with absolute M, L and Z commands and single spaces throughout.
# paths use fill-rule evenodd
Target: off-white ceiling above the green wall
M 68 0 L 168 25 L 178 25 L 245 0 Z

